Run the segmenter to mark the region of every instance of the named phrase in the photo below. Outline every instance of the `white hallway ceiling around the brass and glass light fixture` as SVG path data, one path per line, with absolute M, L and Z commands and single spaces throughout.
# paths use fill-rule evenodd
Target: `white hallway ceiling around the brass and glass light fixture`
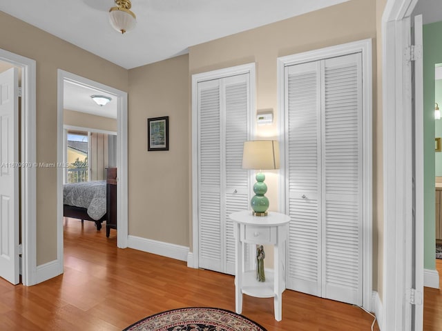
M 111 28 L 114 0 L 0 1 L 0 10 L 126 69 L 188 52 L 189 46 L 348 0 L 132 0 L 137 26 Z

